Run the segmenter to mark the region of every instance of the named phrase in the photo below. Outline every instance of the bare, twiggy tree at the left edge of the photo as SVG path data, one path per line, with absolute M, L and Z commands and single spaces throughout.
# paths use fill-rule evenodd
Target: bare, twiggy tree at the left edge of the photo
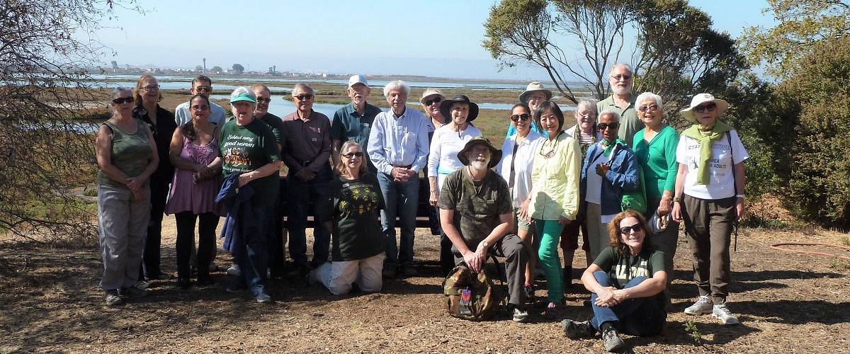
M 112 19 L 113 6 L 121 4 L 3 2 L 0 232 L 22 237 L 96 234 L 94 209 L 74 193 L 96 171 L 94 135 L 78 118 L 91 114 L 87 107 L 93 102 L 106 106 L 105 94 L 90 86 L 86 69 L 98 66 L 108 49 L 81 38 Z

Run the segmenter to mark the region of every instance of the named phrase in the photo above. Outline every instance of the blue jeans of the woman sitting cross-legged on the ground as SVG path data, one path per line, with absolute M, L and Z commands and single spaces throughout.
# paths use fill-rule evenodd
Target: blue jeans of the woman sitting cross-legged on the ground
M 608 273 L 602 271 L 593 273 L 593 278 L 602 286 L 614 284 Z M 644 280 L 646 277 L 633 278 L 623 289 L 632 288 Z M 610 322 L 621 333 L 637 336 L 659 334 L 664 329 L 667 312 L 664 312 L 664 306 L 657 295 L 629 299 L 614 307 L 596 306 L 597 297 L 596 294 L 590 296 L 593 307 L 590 323 L 597 330 L 601 330 L 602 323 L 606 322 Z

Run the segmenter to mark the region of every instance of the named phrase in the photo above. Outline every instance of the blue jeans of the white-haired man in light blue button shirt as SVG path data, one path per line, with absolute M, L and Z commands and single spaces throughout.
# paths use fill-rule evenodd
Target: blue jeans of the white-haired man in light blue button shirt
M 407 182 L 394 182 L 386 173 L 377 174 L 381 194 L 387 209 L 381 211 L 381 228 L 387 244 L 384 263 L 398 264 L 413 261 L 413 236 L 416 231 L 416 210 L 419 207 L 419 177 Z M 395 216 L 399 216 L 401 239 L 395 244 Z

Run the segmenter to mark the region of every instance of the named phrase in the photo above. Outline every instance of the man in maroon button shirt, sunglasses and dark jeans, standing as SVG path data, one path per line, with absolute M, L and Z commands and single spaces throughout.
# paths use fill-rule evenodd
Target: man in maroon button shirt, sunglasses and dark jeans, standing
M 319 267 L 330 254 L 331 232 L 322 222 L 313 228 L 313 260 L 307 262 L 307 214 L 310 202 L 318 204 L 332 172 L 331 121 L 326 115 L 313 110 L 314 91 L 307 84 L 298 83 L 292 88 L 292 103 L 296 111 L 283 117 L 286 127 L 286 145 L 283 163 L 289 167 L 286 177 L 286 203 L 289 207 L 289 254 L 295 263 L 290 276 L 309 272 L 309 267 Z M 315 214 L 314 214 L 315 215 Z

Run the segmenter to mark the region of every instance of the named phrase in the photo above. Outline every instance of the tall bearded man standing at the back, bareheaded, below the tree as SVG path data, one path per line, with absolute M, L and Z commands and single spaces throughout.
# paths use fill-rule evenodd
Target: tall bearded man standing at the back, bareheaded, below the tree
M 613 110 L 620 114 L 620 130 L 617 135 L 626 141 L 630 148 L 634 148 L 632 139 L 635 138 L 635 133 L 643 129 L 643 121 L 638 118 L 638 110 L 635 110 L 635 99 L 638 99 L 638 96 L 632 94 L 632 79 L 632 66 L 614 65 L 608 76 L 611 96 L 596 104 L 598 112 Z

